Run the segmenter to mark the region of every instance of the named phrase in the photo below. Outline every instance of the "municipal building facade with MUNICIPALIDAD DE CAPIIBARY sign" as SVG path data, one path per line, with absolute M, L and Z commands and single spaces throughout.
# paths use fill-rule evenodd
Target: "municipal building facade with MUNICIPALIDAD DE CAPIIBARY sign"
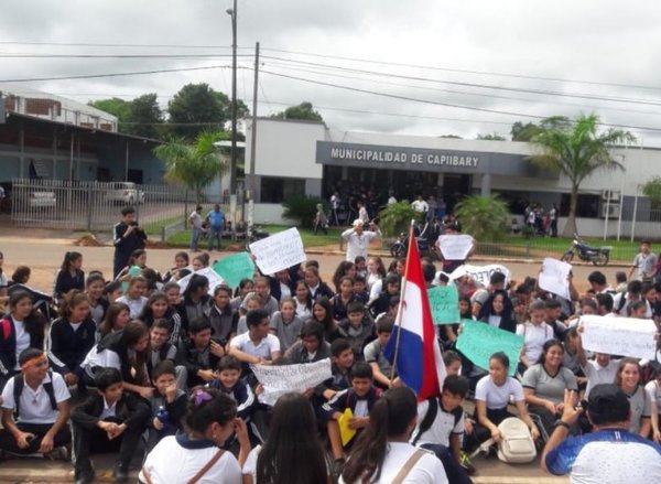
M 246 160 L 252 133 L 249 122 Z M 568 180 L 532 164 L 535 147 L 525 142 L 349 132 L 323 122 L 259 118 L 254 146 L 258 223 L 286 222 L 281 203 L 292 194 L 328 200 L 334 192 L 345 200 L 369 192 L 380 203 L 389 193 L 410 201 L 433 195 L 449 208 L 465 195 L 497 194 L 519 219 L 530 204 L 555 204 L 560 230 L 568 213 Z M 613 155 L 624 170 L 598 171 L 582 183 L 579 234 L 658 237 L 661 209 L 641 186 L 661 175 L 661 150 L 622 148 Z

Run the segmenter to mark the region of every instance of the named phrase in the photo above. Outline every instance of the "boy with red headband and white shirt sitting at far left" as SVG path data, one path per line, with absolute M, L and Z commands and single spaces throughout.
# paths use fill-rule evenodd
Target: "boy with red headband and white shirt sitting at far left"
M 66 424 L 71 397 L 64 378 L 48 369 L 46 354 L 26 348 L 19 355 L 21 373 L 2 390 L 0 449 L 17 455 L 42 453 L 67 459 L 72 442 Z

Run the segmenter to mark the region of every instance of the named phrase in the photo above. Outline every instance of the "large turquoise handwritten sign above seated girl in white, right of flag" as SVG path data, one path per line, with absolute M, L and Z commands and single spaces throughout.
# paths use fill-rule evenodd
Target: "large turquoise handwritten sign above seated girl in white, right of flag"
M 517 370 L 522 347 L 523 336 L 478 321 L 465 322 L 457 338 L 457 349 L 484 369 L 489 368 L 489 357 L 494 353 L 505 352 L 510 359 L 510 376 Z

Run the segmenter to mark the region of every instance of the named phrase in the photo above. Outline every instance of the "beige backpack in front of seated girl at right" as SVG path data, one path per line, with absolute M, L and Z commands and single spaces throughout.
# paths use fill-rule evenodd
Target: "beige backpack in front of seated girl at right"
M 500 442 L 498 443 L 498 459 L 508 464 L 528 464 L 537 458 L 534 441 L 528 426 L 517 417 L 509 417 L 498 426 Z M 488 453 L 494 445 L 494 439 L 484 442 L 472 456 L 480 451 Z

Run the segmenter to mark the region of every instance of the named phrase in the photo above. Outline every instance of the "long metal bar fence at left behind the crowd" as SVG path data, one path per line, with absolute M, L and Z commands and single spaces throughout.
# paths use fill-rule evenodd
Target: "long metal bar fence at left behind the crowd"
M 6 190 L 11 222 L 21 227 L 110 232 L 121 207 L 132 205 L 140 225 L 161 235 L 162 227 L 184 223 L 194 206 L 193 195 L 174 185 L 14 179 Z

